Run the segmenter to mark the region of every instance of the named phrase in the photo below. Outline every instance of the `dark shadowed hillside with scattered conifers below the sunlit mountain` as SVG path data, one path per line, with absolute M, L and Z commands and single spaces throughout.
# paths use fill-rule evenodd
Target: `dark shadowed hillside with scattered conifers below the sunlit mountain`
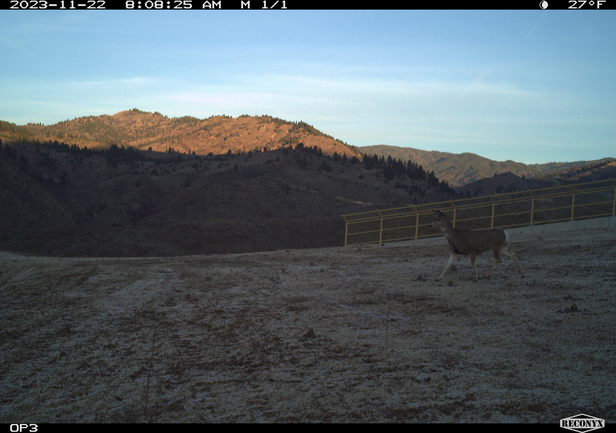
M 0 249 L 165 256 L 341 245 L 341 214 L 451 200 L 433 173 L 318 148 L 188 155 L 0 142 Z

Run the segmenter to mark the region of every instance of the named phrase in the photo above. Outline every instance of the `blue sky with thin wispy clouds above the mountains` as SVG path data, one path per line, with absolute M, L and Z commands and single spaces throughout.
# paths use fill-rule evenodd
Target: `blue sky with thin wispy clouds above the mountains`
M 347 144 L 616 156 L 614 10 L 0 10 L 0 119 L 267 114 Z

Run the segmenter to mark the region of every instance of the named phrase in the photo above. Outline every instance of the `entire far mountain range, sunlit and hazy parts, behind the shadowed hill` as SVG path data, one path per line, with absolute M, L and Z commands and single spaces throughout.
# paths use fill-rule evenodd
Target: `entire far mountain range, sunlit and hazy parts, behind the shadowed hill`
M 411 147 L 373 145 L 355 147 L 319 131 L 302 121 L 286 121 L 269 115 L 213 115 L 199 119 L 193 116 L 168 117 L 158 111 L 138 108 L 114 115 L 81 116 L 51 125 L 28 123 L 15 125 L 0 121 L 0 134 L 15 140 L 62 140 L 90 148 L 108 148 L 112 144 L 151 149 L 156 152 L 217 155 L 275 150 L 302 143 L 315 147 L 324 155 L 392 156 L 408 160 L 434 171 L 442 180 L 461 187 L 494 174 L 511 172 L 519 177 L 546 178 L 561 172 L 606 163 L 614 158 L 593 161 L 525 164 L 512 160 L 494 161 L 475 153 L 450 153 L 420 150 Z

